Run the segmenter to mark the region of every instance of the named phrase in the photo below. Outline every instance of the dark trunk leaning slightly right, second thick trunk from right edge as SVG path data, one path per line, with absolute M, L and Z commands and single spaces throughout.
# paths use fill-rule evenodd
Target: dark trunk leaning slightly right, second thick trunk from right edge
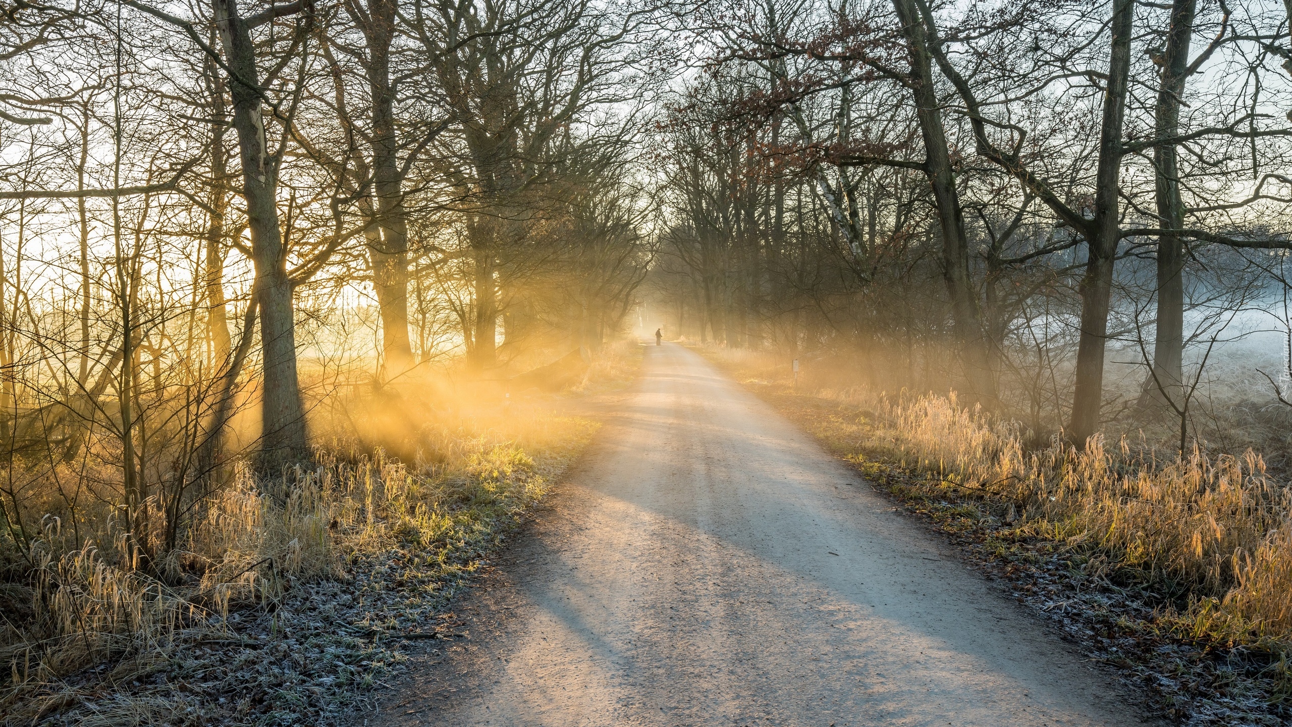
M 1109 303 L 1112 295 L 1112 261 L 1116 256 L 1118 177 L 1121 171 L 1121 127 L 1125 116 L 1130 72 L 1130 31 L 1134 0 L 1115 0 L 1109 79 L 1099 128 L 1099 163 L 1096 172 L 1094 220 L 1087 241 L 1085 274 L 1081 278 L 1081 330 L 1076 348 L 1076 387 L 1067 435 L 1084 444 L 1099 428 L 1103 406 L 1103 356 L 1109 335 Z

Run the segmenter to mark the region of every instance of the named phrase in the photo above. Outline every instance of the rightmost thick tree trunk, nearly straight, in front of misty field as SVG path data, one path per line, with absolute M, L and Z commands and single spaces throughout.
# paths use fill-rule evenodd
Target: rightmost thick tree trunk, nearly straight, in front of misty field
M 1189 43 L 1194 34 L 1196 0 L 1176 0 L 1171 8 L 1171 30 L 1162 58 L 1162 85 L 1158 89 L 1155 136 L 1169 138 L 1180 132 L 1180 105 L 1189 76 Z M 1180 168 L 1176 145 L 1154 147 L 1155 186 L 1159 225 L 1178 230 L 1185 225 L 1185 204 L 1180 198 Z M 1145 382 L 1141 405 L 1180 404 L 1185 349 L 1185 250 L 1177 234 L 1158 238 L 1158 323 L 1152 345 L 1152 374 Z

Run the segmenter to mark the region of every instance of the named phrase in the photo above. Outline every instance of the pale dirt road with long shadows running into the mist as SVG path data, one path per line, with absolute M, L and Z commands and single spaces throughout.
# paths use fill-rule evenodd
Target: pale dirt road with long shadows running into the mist
M 1136 724 L 1109 679 L 695 353 L 643 378 L 370 724 Z

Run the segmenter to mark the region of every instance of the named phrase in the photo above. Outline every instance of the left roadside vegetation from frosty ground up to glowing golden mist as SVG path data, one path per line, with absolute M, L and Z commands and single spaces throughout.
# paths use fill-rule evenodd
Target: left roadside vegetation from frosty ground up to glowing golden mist
M 597 428 L 562 411 L 637 356 L 607 347 L 552 392 L 340 389 L 314 409 L 311 464 L 231 463 L 171 548 L 130 548 L 84 480 L 27 483 L 6 524 L 39 528 L 0 546 L 0 722 L 337 721 L 410 643 L 453 638 L 446 604 Z

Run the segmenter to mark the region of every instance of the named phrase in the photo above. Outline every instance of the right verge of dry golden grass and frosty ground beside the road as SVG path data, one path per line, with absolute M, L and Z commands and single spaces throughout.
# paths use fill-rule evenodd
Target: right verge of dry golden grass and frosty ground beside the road
M 1076 449 L 956 398 L 846 385 L 844 362 L 708 349 L 867 481 L 1198 724 L 1292 718 L 1292 490 L 1252 450 L 1142 432 Z M 826 385 L 828 384 L 828 385 Z M 1030 444 L 1031 442 L 1031 444 Z

